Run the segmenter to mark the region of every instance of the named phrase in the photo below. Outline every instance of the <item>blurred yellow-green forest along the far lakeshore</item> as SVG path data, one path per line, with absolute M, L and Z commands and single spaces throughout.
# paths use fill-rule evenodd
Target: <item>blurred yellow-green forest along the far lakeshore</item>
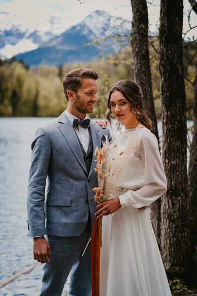
M 152 37 L 149 43 L 149 55 L 152 74 L 152 90 L 157 119 L 161 119 L 160 74 L 158 38 Z M 197 50 L 197 44 L 185 43 L 184 65 Z M 77 67 L 92 68 L 99 71 L 99 102 L 95 105 L 91 117 L 105 117 L 107 96 L 116 81 L 124 78 L 133 79 L 131 46 L 123 48 L 115 55 L 103 57 L 97 61 L 84 62 L 80 65 L 64 64 L 62 67 L 39 65 L 27 67 L 23 61 L 0 60 L 0 116 L 58 116 L 66 108 L 66 99 L 62 91 L 64 74 Z M 195 77 L 197 59 L 188 66 L 187 76 Z M 187 80 L 186 95 L 188 118 L 192 118 L 193 86 Z

